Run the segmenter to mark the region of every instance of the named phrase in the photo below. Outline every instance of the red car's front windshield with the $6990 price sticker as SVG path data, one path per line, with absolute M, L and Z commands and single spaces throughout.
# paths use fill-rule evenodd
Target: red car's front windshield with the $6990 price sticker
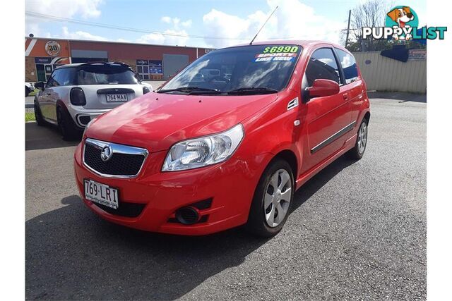
M 302 47 L 287 44 L 211 51 L 174 76 L 158 92 L 275 93 L 286 87 L 301 51 Z

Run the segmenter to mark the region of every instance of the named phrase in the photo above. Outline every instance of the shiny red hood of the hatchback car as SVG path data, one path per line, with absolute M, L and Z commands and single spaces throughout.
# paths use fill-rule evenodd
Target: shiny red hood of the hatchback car
M 218 133 L 274 102 L 278 94 L 207 96 L 150 92 L 97 118 L 86 136 L 149 152 Z

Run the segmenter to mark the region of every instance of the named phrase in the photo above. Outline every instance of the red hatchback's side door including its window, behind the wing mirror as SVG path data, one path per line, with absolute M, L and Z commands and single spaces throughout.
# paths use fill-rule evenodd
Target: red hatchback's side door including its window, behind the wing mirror
M 311 87 L 314 80 L 323 78 L 340 85 L 340 92 L 327 97 L 308 99 L 303 95 L 306 111 L 307 148 L 304 171 L 308 171 L 337 152 L 345 143 L 350 130 L 350 102 L 343 88 L 343 74 L 331 47 L 316 49 L 309 59 L 302 80 L 302 90 Z

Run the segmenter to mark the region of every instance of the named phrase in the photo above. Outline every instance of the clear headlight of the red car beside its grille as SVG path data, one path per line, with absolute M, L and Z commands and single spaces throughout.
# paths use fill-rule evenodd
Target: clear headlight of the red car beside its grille
M 225 161 L 232 156 L 243 136 L 239 123 L 222 133 L 178 142 L 169 149 L 162 171 L 184 171 Z

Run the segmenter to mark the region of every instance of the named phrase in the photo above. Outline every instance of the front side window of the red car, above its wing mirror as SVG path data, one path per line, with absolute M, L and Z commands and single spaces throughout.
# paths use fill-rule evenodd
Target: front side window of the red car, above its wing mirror
M 319 78 L 334 80 L 340 85 L 339 68 L 332 49 L 321 48 L 314 51 L 306 68 L 306 78 L 308 87 Z

